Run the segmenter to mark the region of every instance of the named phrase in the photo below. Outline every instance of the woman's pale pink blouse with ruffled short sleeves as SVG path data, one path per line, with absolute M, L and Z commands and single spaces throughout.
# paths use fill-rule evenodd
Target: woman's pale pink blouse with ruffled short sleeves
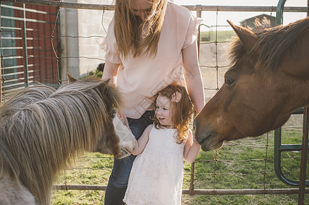
M 149 97 L 170 83 L 185 85 L 182 49 L 195 42 L 200 22 L 188 9 L 168 2 L 156 57 L 123 58 L 118 54 L 114 38 L 114 19 L 111 21 L 108 34 L 99 46 L 106 51 L 108 61 L 121 64 L 116 86 L 125 100 L 121 109 L 124 115 L 140 118 L 151 105 Z

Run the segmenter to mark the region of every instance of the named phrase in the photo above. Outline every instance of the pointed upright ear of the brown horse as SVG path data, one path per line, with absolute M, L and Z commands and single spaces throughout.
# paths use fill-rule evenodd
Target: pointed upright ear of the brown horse
M 247 52 L 250 52 L 252 49 L 254 49 L 254 46 L 258 41 L 258 36 L 256 36 L 254 32 L 245 27 L 236 26 L 230 20 L 227 20 L 227 23 L 229 23 L 232 29 L 234 29 L 240 39 L 240 42 L 243 43 L 243 46 L 245 47 Z

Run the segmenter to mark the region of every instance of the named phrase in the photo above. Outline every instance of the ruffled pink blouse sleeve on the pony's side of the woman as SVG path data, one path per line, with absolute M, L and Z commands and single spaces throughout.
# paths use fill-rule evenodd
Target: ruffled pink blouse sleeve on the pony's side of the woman
M 121 64 L 116 39 L 114 38 L 114 20 L 111 21 L 110 26 L 108 27 L 108 34 L 106 37 L 99 38 L 97 43 L 100 49 L 106 51 L 106 60 L 110 61 L 112 64 Z

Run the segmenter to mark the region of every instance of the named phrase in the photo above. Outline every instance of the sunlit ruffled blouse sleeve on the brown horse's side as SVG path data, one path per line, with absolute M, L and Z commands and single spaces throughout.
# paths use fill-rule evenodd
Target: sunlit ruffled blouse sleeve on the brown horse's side
M 203 18 L 195 18 L 195 16 L 191 14 L 188 31 L 186 33 L 186 40 L 184 41 L 182 49 L 186 49 L 186 47 L 190 46 L 193 44 L 193 42 L 195 42 L 195 40 L 197 40 L 197 35 L 199 34 L 199 25 L 201 25 L 202 21 Z

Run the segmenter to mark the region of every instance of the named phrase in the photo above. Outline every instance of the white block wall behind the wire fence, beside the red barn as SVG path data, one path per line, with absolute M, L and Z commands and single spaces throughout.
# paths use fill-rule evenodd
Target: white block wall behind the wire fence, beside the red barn
M 112 0 L 63 0 L 73 3 L 112 4 Z M 113 11 L 60 9 L 61 36 L 79 38 L 61 38 L 61 68 L 62 79 L 66 79 L 66 72 L 73 77 L 84 77 L 103 63 L 105 52 L 99 49 L 97 39 L 106 36 L 106 31 Z M 103 16 L 103 20 L 102 20 Z M 106 31 L 105 31 L 105 29 Z M 85 37 L 85 38 L 82 38 Z

